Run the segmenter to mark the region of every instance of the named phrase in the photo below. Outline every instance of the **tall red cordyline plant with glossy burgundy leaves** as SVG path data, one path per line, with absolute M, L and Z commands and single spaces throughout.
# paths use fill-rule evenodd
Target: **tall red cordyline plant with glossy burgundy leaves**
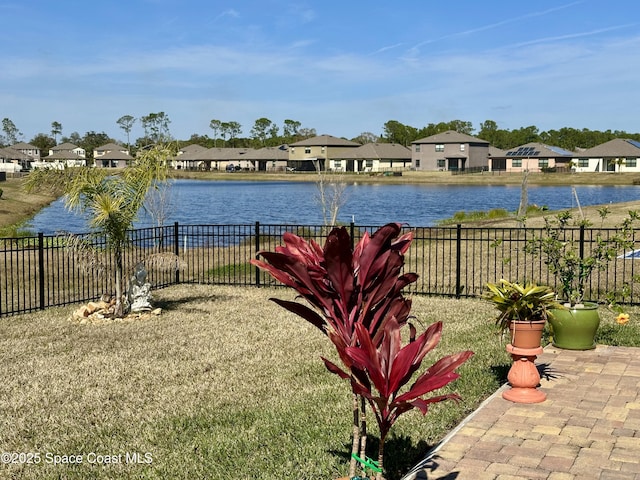
M 400 348 L 397 343 L 411 310 L 411 300 L 403 297 L 402 289 L 418 278 L 415 273 L 401 273 L 404 253 L 411 245 L 413 234 L 400 233 L 400 224 L 387 224 L 371 236 L 365 233 L 353 250 L 344 227 L 329 233 L 324 248 L 313 240 L 285 233 L 284 246 L 276 247 L 275 252 L 260 252 L 264 261 L 251 261 L 295 289 L 314 307 L 272 299 L 318 327 L 332 341 L 344 370 L 323 360 L 331 372 L 350 378 L 354 394 L 371 404 L 381 433 L 380 460 L 384 438 L 401 413 L 412 408 L 426 413 L 428 403 L 457 398 L 455 395 L 430 400 L 421 397 L 455 380 L 457 374 L 453 370 L 471 355 L 465 352 L 466 356 L 446 357 L 441 360 L 443 365 L 436 364 L 436 370 L 422 374 L 420 383 L 414 383 L 405 394 L 398 396 L 400 388 L 420 367 L 424 355 L 438 343 L 441 331 L 441 326 L 432 326 L 415 339 L 412 327 L 409 345 Z M 374 355 L 374 352 L 377 353 Z M 367 356 L 369 360 L 365 362 Z M 387 377 L 389 382 L 381 383 L 381 379 Z M 386 386 L 383 387 L 383 383 Z M 364 423 L 361 415 L 356 403 L 352 453 L 357 453 L 360 446 L 364 458 L 366 430 L 360 425 L 361 421 Z M 360 440 L 361 434 L 364 441 Z M 355 461 L 352 461 L 350 476 L 354 475 Z

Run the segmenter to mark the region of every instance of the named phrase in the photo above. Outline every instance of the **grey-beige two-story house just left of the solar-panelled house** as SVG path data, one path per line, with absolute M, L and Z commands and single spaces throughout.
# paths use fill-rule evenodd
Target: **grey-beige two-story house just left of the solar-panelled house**
M 455 130 L 411 142 L 415 170 L 484 170 L 488 156 L 489 142 Z

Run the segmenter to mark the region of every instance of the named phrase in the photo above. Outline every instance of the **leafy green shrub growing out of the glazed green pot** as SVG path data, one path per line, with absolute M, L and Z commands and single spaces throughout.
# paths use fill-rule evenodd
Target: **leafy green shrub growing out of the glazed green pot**
M 602 219 L 608 214 L 601 209 Z M 569 235 L 571 212 L 564 211 L 555 217 L 545 217 L 544 234 L 530 240 L 527 253 L 540 255 L 560 286 L 561 297 L 571 306 L 582 303 L 585 288 L 591 275 L 604 270 L 620 252 L 633 247 L 633 226 L 638 212 L 629 211 L 629 216 L 618 226 L 615 233 L 606 236 L 599 232 L 593 247 L 588 252 L 581 251 L 580 244 Z M 585 224 L 582 220 L 582 224 Z

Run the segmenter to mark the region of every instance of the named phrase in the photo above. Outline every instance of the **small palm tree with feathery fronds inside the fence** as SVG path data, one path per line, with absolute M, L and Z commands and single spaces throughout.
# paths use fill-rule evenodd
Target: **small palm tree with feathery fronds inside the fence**
M 64 195 L 67 208 L 88 214 L 89 226 L 105 235 L 114 256 L 116 317 L 125 314 L 123 253 L 128 244 L 127 231 L 144 207 L 149 189 L 166 179 L 172 153 L 166 145 L 143 150 L 120 175 L 91 167 L 40 169 L 31 172 L 25 182 L 27 191 L 49 188 Z

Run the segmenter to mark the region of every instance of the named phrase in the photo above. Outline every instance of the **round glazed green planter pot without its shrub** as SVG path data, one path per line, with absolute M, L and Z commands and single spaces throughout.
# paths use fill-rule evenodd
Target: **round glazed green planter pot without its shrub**
M 567 350 L 596 348 L 595 336 L 600 326 L 596 303 L 585 302 L 583 307 L 567 310 L 553 309 L 549 324 L 553 333 L 553 346 Z

